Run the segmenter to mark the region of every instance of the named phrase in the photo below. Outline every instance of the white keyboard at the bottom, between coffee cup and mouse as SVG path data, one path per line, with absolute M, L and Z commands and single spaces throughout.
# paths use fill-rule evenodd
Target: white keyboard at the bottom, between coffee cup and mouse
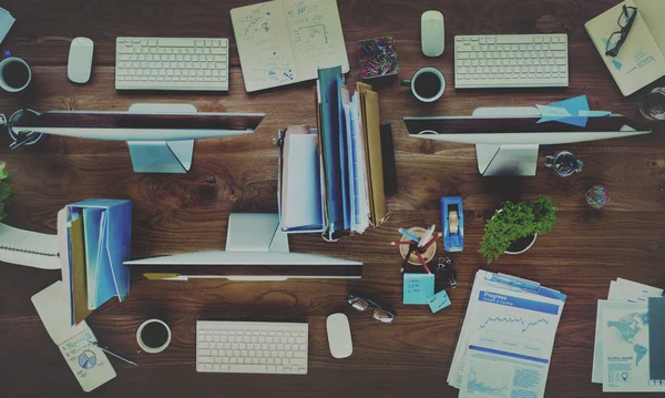
M 198 320 L 196 336 L 196 371 L 307 374 L 307 324 Z

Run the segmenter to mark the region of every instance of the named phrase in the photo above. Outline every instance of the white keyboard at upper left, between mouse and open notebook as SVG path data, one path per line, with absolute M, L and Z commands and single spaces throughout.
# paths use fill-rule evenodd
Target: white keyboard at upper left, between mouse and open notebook
M 228 39 L 117 38 L 115 89 L 228 91 Z

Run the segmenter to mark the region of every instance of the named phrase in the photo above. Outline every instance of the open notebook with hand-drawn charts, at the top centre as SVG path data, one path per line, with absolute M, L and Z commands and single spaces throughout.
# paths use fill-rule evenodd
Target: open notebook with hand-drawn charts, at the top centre
M 276 0 L 231 10 L 248 92 L 349 71 L 336 0 Z

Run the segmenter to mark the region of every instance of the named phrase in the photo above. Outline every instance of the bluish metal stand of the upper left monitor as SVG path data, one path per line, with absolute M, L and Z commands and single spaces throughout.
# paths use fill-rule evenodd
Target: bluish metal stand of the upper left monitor
M 196 113 L 191 104 L 133 104 L 136 113 Z M 186 173 L 192 167 L 194 140 L 127 141 L 134 173 Z

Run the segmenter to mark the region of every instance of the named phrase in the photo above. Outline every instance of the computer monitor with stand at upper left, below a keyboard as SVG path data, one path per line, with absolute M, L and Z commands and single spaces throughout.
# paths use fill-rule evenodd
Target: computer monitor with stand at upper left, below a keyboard
M 264 113 L 204 113 L 190 104 L 135 104 L 129 112 L 25 112 L 17 132 L 126 141 L 136 173 L 186 173 L 194 140 L 253 133 Z

